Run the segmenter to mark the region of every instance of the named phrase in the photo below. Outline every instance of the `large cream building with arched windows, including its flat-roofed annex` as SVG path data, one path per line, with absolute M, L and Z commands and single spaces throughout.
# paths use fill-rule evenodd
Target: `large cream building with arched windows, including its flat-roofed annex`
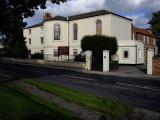
M 46 60 L 66 60 L 67 55 L 58 57 L 59 47 L 68 47 L 69 56 L 79 54 L 82 51 L 82 38 L 95 34 L 117 38 L 116 59 L 119 64 L 144 63 L 144 45 L 132 39 L 132 20 L 107 10 L 67 18 L 46 14 L 42 23 L 24 29 L 26 45 L 31 54 L 41 52 Z

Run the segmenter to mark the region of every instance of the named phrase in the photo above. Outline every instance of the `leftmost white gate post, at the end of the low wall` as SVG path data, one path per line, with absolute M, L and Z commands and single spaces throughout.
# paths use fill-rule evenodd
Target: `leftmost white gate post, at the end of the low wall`
M 92 51 L 86 51 L 86 70 L 92 69 Z

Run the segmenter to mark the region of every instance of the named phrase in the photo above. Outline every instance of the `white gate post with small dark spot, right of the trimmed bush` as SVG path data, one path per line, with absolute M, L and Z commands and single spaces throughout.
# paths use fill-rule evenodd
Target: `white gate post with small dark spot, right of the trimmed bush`
M 103 51 L 103 72 L 109 71 L 109 51 Z

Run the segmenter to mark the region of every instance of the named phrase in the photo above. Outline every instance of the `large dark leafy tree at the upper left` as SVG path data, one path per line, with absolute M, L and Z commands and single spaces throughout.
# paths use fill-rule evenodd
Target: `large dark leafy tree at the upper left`
M 20 41 L 25 45 L 23 28 L 26 26 L 24 18 L 32 17 L 35 10 L 45 9 L 47 0 L 0 0 L 0 33 L 6 35 L 6 47 L 15 48 L 13 41 Z M 52 3 L 60 4 L 66 0 L 50 0 Z M 24 46 L 22 45 L 22 46 Z M 24 48 L 25 49 L 25 48 Z M 10 51 L 10 50 L 8 50 Z

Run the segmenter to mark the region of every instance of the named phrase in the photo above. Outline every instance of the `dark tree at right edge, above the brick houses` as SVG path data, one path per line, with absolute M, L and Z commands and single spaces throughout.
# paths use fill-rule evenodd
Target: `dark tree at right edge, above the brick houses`
M 150 27 L 153 34 L 156 36 L 157 45 L 160 52 L 160 11 L 152 13 L 152 18 L 149 21 L 149 24 L 151 25 Z

